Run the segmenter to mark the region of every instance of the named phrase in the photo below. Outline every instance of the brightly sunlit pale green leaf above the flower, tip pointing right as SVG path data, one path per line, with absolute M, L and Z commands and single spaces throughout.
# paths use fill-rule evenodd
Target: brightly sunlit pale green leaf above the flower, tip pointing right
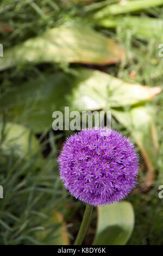
M 134 105 L 150 100 L 161 92 L 160 87 L 129 84 L 104 72 L 90 69 L 80 69 L 75 83 L 77 86 L 72 91 L 72 105 L 80 111 L 101 109 L 106 105 Z

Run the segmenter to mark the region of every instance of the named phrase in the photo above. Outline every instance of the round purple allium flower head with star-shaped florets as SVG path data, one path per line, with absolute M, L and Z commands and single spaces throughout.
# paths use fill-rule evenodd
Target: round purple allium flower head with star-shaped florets
M 137 183 L 134 144 L 108 128 L 85 129 L 68 137 L 58 162 L 65 187 L 90 205 L 117 202 Z

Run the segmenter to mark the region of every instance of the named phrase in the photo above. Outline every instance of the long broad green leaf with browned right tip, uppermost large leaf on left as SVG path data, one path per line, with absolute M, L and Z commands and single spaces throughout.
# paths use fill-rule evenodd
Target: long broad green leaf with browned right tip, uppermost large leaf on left
M 68 62 L 111 64 L 124 58 L 123 48 L 114 40 L 78 22 L 49 29 L 4 51 L 0 70 L 20 63 Z

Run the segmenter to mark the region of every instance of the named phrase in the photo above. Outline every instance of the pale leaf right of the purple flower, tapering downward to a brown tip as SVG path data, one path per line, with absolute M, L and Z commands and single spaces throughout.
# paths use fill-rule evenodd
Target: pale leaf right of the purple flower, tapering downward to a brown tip
M 139 146 L 150 174 L 147 182 L 151 182 L 158 152 L 154 109 L 149 106 L 138 106 L 126 112 L 112 109 L 111 113 L 130 131 Z

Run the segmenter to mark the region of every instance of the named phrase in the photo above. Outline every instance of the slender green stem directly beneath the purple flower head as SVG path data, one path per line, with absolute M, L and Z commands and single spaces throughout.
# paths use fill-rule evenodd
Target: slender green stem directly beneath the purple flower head
M 91 215 L 92 215 L 93 206 L 87 204 L 82 220 L 82 224 L 80 225 L 80 229 L 76 238 L 76 241 L 74 242 L 74 245 L 82 245 L 87 227 L 89 226 Z

